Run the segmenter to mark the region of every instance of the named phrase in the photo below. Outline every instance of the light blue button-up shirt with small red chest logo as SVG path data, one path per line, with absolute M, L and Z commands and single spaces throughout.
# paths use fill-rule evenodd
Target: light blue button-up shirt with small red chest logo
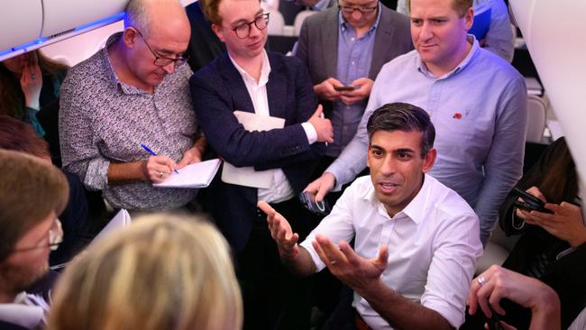
M 431 175 L 474 208 L 485 243 L 500 204 L 523 171 L 526 100 L 525 79 L 478 41 L 442 77 L 427 71 L 413 50 L 382 67 L 358 132 L 326 172 L 334 174 L 336 189 L 351 181 L 366 167 L 372 112 L 392 102 L 417 105 L 435 125 L 437 160 Z

